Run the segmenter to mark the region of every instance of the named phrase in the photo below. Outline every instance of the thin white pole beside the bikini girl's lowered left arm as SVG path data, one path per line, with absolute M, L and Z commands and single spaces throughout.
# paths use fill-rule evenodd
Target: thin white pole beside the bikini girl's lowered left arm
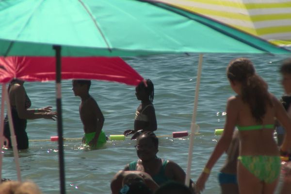
M 202 60 L 203 60 L 203 54 L 199 54 L 197 79 L 196 79 L 196 89 L 195 89 L 195 99 L 194 99 L 194 110 L 193 110 L 192 122 L 191 122 L 190 145 L 189 145 L 189 153 L 188 153 L 187 172 L 186 172 L 186 178 L 185 178 L 185 184 L 187 186 L 189 186 L 189 184 L 190 184 L 192 153 L 193 153 L 194 135 L 195 135 L 195 129 L 196 129 L 195 123 L 196 123 L 197 106 L 198 106 L 198 94 L 199 94 L 200 78 L 201 78 L 201 72 L 202 72 Z

